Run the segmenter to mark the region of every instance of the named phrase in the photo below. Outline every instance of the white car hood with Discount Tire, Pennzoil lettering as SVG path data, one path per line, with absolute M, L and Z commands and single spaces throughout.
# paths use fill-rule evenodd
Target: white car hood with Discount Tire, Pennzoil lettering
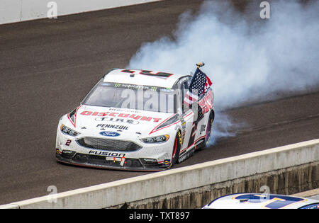
M 167 120 L 172 118 L 177 120 L 177 115 L 128 108 L 81 105 L 74 113 L 67 114 L 67 118 L 77 131 L 85 135 L 121 136 L 121 138 L 132 138 L 135 135 L 140 138 L 155 135 L 155 132 L 161 130 Z

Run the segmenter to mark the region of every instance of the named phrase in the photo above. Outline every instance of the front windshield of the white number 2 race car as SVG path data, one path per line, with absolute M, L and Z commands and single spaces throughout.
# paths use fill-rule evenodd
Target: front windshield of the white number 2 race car
M 177 96 L 170 88 L 133 84 L 97 84 L 84 98 L 85 105 L 176 113 Z

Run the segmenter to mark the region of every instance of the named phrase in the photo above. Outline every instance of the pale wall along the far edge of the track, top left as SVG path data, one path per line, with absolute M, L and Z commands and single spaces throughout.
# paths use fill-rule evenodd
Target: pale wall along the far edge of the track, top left
M 0 24 L 47 18 L 53 7 L 50 2 L 56 3 L 57 16 L 65 16 L 151 1 L 160 0 L 0 0 Z

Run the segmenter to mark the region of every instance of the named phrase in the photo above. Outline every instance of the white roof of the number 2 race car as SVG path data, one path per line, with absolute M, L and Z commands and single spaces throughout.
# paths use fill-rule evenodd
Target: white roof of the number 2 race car
M 104 76 L 103 82 L 172 88 L 183 76 L 189 75 L 138 69 L 113 69 Z

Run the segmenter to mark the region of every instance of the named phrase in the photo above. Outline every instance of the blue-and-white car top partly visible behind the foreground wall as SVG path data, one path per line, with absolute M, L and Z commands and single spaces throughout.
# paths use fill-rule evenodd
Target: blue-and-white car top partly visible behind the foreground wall
M 206 205 L 204 208 L 227 208 L 227 209 L 298 209 L 305 205 L 318 204 L 318 200 L 298 198 L 288 195 L 275 195 L 264 193 L 238 193 L 226 195 Z

